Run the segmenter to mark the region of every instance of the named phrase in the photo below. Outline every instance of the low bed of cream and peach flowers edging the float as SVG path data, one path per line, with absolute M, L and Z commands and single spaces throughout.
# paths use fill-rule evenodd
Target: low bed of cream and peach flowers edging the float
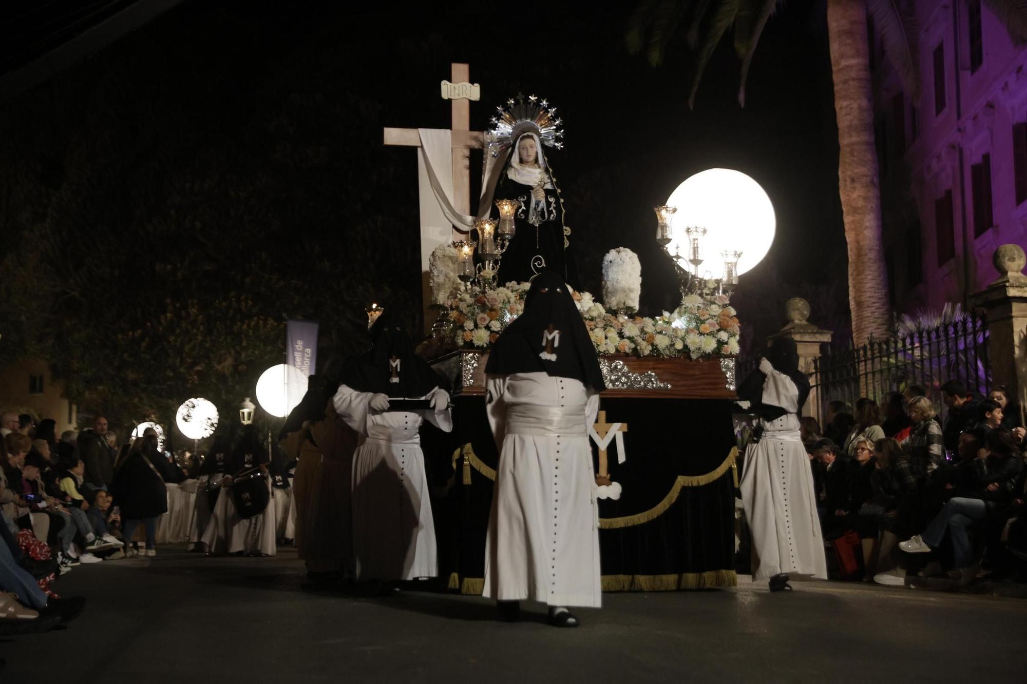
M 443 346 L 487 350 L 524 311 L 528 287 L 527 282 L 510 282 L 455 295 L 447 302 L 450 311 Z M 689 295 L 675 311 L 653 318 L 608 313 L 586 292 L 572 291 L 571 296 L 600 354 L 699 358 L 738 353 L 740 324 L 726 295 Z

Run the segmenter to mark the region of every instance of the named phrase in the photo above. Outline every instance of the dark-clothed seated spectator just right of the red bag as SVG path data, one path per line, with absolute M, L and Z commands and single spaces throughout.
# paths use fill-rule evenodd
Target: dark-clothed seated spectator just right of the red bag
M 905 572 L 898 568 L 893 552 L 899 539 L 920 524 L 920 488 L 924 476 L 895 440 L 885 438 L 875 442 L 873 455 L 873 496 L 863 504 L 860 516 L 877 523 L 879 536 L 867 565 L 873 568 L 875 583 L 901 586 L 905 584 Z

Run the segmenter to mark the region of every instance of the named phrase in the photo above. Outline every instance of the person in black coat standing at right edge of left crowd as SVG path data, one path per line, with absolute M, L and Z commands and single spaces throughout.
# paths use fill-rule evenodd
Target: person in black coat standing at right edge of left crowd
M 167 511 L 167 489 L 160 473 L 150 461 L 150 455 L 157 453 L 157 433 L 147 428 L 143 436 L 136 440 L 124 461 L 114 473 L 114 499 L 121 507 L 124 519 L 123 530 L 126 544 L 131 543 L 132 533 L 141 524 L 146 527 L 146 548 L 144 556 L 156 556 L 157 518 Z M 128 548 L 129 556 L 139 555 Z

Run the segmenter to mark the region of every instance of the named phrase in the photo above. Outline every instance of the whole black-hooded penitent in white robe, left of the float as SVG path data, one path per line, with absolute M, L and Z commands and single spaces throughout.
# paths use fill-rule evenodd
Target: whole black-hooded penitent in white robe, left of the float
M 353 454 L 356 578 L 383 582 L 439 574 L 434 522 L 418 428 L 453 429 L 441 378 L 414 353 L 406 326 L 388 308 L 371 328 L 371 349 L 346 363 L 332 400 L 359 434 Z

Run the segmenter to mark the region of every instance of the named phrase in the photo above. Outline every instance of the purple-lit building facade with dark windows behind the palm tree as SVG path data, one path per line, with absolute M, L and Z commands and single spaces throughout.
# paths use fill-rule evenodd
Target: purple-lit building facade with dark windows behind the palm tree
M 918 105 L 879 36 L 871 45 L 884 239 L 902 312 L 964 303 L 997 277 L 995 248 L 1027 245 L 1027 47 L 979 0 L 914 5 Z

